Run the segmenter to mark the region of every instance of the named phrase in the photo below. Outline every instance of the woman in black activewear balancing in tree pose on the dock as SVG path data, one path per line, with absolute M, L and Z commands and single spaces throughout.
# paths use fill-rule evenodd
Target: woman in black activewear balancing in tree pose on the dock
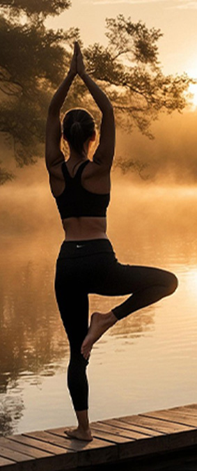
M 102 112 L 100 143 L 88 160 L 95 140 L 95 123 L 84 109 L 71 109 L 63 119 L 63 139 L 70 157 L 61 152 L 60 110 L 70 85 L 79 75 Z M 175 291 L 178 281 L 170 272 L 156 268 L 123 265 L 107 238 L 110 171 L 115 146 L 113 107 L 107 95 L 86 73 L 78 43 L 68 76 L 49 105 L 46 164 L 52 194 L 65 229 L 65 240 L 56 262 L 55 291 L 58 308 L 70 342 L 68 387 L 78 426 L 65 431 L 79 440 L 92 440 L 88 422 L 86 366 L 93 343 L 120 319 Z M 88 293 L 126 295 L 129 298 L 108 313 L 91 316 L 88 329 Z

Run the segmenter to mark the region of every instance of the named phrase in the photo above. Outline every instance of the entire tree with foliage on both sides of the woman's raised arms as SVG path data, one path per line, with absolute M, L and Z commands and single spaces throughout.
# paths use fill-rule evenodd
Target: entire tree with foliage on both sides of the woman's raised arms
M 43 153 L 47 107 L 68 70 L 74 40 L 80 42 L 79 29 L 45 28 L 47 15 L 59 14 L 69 6 L 69 0 L 0 0 L 7 13 L 6 18 L 0 17 L 0 41 L 4 44 L 0 52 L 0 132 L 13 142 L 19 166 L 35 162 Z M 22 14 L 26 22 L 21 21 Z M 159 29 L 148 29 L 123 15 L 106 21 L 109 45 L 95 43 L 84 49 L 87 71 L 107 91 L 118 125 L 127 132 L 136 126 L 152 139 L 150 123 L 161 111 L 182 111 L 191 80 L 186 74 L 173 77 L 161 72 Z M 87 107 L 87 103 L 99 123 L 100 114 L 77 77 L 63 111 Z M 5 169 L 0 175 L 4 183 Z

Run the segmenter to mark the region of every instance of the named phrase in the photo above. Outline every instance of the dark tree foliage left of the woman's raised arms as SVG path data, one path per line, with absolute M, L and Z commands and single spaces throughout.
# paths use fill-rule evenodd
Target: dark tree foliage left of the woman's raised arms
M 21 167 L 40 155 L 51 89 L 61 82 L 68 49 L 79 38 L 78 29 L 54 32 L 44 20 L 69 6 L 69 0 L 0 1 L 0 132 Z M 0 183 L 12 177 L 1 168 Z

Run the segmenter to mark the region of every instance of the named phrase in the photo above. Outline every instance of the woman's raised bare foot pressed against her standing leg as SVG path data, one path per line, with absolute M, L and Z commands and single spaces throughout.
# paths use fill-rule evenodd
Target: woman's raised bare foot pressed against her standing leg
M 109 311 L 107 314 L 101 314 L 100 312 L 94 312 L 92 314 L 88 334 L 81 345 L 81 354 L 86 360 L 88 360 L 90 356 L 90 350 L 93 344 L 117 321 L 118 319 L 112 311 Z

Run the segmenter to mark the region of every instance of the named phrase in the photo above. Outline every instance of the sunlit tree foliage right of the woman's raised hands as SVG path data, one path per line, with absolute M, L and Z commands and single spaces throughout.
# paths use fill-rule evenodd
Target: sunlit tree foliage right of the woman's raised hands
M 148 30 L 145 24 L 132 23 L 123 15 L 107 19 L 106 49 L 95 44 L 86 49 L 88 70 L 107 86 L 113 107 L 121 125 L 131 132 L 136 125 L 143 134 L 152 138 L 150 123 L 159 112 L 182 111 L 186 105 L 184 91 L 190 79 L 165 76 L 158 59 L 159 29 Z

